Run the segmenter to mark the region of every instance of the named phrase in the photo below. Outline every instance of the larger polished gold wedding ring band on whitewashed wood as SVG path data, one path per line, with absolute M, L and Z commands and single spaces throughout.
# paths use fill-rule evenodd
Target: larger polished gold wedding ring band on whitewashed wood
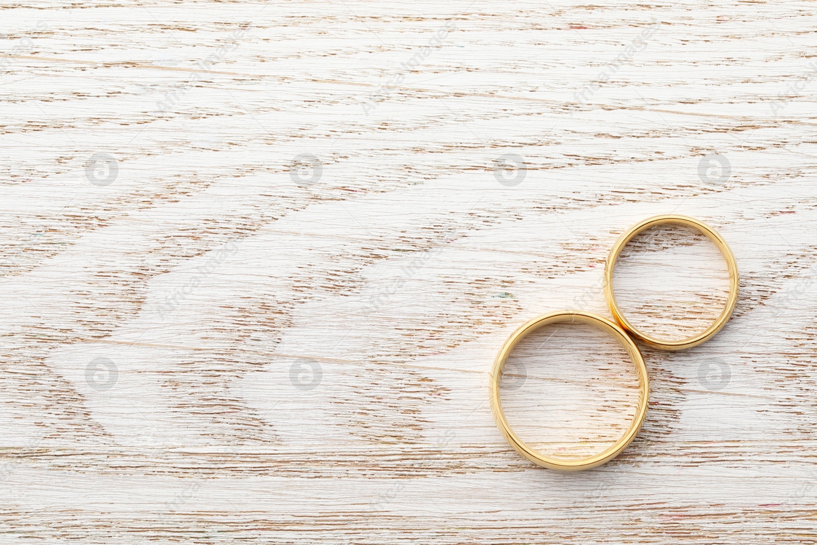
M 605 449 L 603 452 L 595 454 L 589 458 L 582 458 L 578 460 L 560 460 L 557 458 L 550 458 L 538 451 L 530 448 L 525 441 L 521 440 L 519 436 L 511 429 L 508 424 L 505 413 L 502 412 L 502 401 L 499 399 L 499 379 L 502 377 L 502 369 L 505 367 L 505 362 L 508 356 L 511 355 L 514 347 L 524 338 L 528 333 L 546 326 L 548 324 L 558 324 L 562 322 L 579 322 L 582 324 L 591 324 L 600 328 L 602 331 L 609 333 L 621 343 L 627 354 L 630 355 L 633 363 L 636 365 L 636 373 L 638 374 L 638 404 L 636 406 L 636 414 L 632 418 L 632 423 L 624 435 L 621 436 L 612 446 Z M 647 368 L 644 364 L 644 359 L 641 357 L 641 352 L 638 346 L 633 342 L 627 333 L 619 328 L 618 325 L 611 322 L 609 319 L 602 318 L 599 315 L 590 312 L 583 312 L 581 310 L 560 310 L 558 312 L 551 312 L 550 314 L 541 315 L 529 320 L 517 328 L 511 336 L 507 338 L 505 344 L 502 345 L 497 359 L 493 362 L 493 369 L 491 369 L 491 409 L 493 411 L 493 418 L 497 421 L 499 430 L 505 436 L 508 443 L 516 449 L 525 458 L 534 462 L 538 466 L 548 467 L 550 469 L 557 469 L 561 471 L 581 471 L 583 469 L 591 469 L 592 467 L 600 466 L 605 462 L 609 462 L 627 445 L 632 442 L 636 434 L 641 429 L 641 424 L 647 413 L 647 403 L 650 400 L 650 379 L 647 375 Z

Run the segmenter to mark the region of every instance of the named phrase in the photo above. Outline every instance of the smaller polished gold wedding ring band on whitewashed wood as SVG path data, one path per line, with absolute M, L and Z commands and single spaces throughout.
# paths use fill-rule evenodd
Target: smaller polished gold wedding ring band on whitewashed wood
M 615 301 L 615 294 L 613 293 L 613 270 L 615 268 L 615 263 L 618 260 L 618 255 L 621 253 L 627 243 L 630 242 L 630 240 L 632 240 L 636 235 L 641 233 L 641 231 L 650 229 L 650 227 L 660 226 L 665 223 L 681 224 L 682 226 L 693 227 L 694 229 L 703 233 L 703 235 L 706 235 L 708 239 L 712 240 L 712 242 L 715 243 L 717 248 L 721 251 L 721 255 L 723 255 L 724 259 L 726 260 L 726 266 L 729 269 L 729 298 L 726 301 L 723 311 L 721 311 L 721 315 L 718 316 L 715 322 L 703 333 L 681 339 L 680 341 L 662 341 L 660 339 L 650 337 L 645 333 L 641 333 L 641 331 L 639 331 L 627 320 L 627 318 L 624 317 L 621 309 L 618 308 L 618 304 Z M 708 341 L 715 335 L 715 333 L 720 331 L 729 320 L 732 310 L 734 310 L 735 303 L 738 302 L 739 284 L 740 277 L 738 274 L 738 264 L 736 261 L 734 261 L 732 250 L 730 250 L 725 240 L 721 238 L 721 235 L 718 235 L 716 230 L 703 223 L 703 221 L 674 214 L 663 214 L 661 216 L 650 217 L 644 221 L 641 221 L 635 226 L 632 226 L 626 233 L 618 238 L 616 243 L 613 245 L 613 248 L 610 249 L 609 257 L 607 257 L 607 263 L 605 264 L 605 298 L 607 299 L 607 305 L 609 306 L 610 311 L 613 313 L 614 319 L 619 325 L 621 325 L 622 328 L 624 328 L 625 331 L 627 331 L 627 333 L 630 333 L 639 341 L 661 350 L 686 350 L 687 348 L 692 348 L 693 346 L 698 346 L 702 342 Z

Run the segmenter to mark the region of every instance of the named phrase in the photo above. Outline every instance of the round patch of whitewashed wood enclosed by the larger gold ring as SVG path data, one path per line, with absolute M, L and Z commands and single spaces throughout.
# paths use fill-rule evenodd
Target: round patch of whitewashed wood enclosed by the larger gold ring
M 604 452 L 627 432 L 639 379 L 622 343 L 577 317 L 523 337 L 502 370 L 499 395 L 520 440 L 548 458 L 574 461 Z

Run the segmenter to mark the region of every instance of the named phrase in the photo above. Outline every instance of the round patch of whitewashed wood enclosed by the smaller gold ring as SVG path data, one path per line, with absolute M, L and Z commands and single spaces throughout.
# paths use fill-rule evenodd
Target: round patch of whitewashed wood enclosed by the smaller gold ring
M 638 333 L 674 342 L 716 322 L 729 298 L 730 276 L 707 235 L 663 223 L 642 230 L 622 248 L 613 289 L 621 315 Z

